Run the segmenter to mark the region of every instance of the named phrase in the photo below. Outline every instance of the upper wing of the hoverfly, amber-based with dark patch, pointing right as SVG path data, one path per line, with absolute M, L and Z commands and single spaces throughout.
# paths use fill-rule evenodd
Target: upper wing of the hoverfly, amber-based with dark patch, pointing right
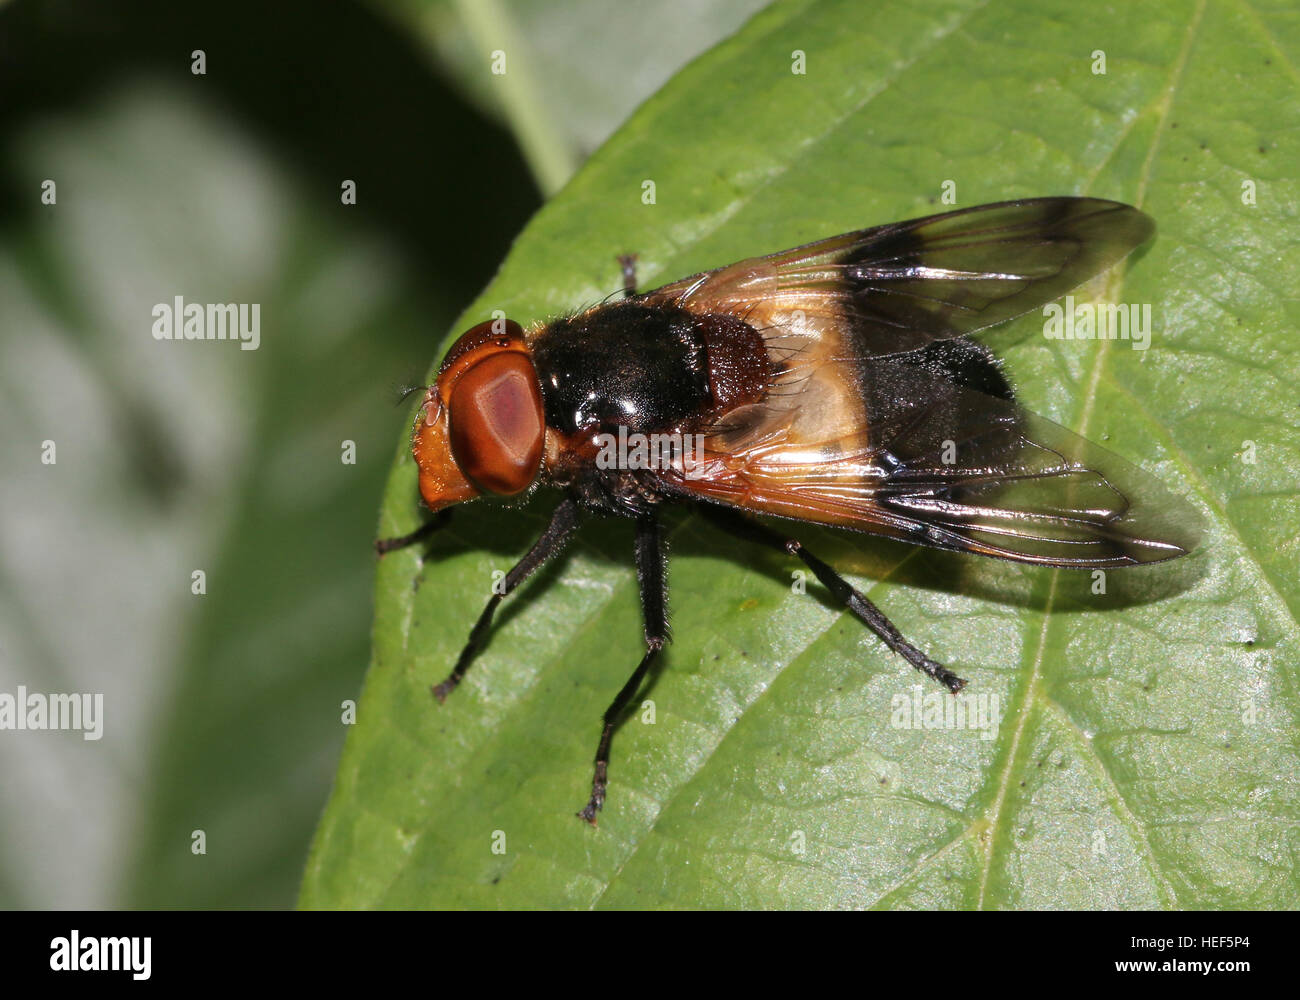
M 852 338 L 857 354 L 896 354 L 1052 302 L 1153 233 L 1149 216 L 1119 202 L 1000 202 L 751 257 L 640 298 L 763 326 L 797 316 Z

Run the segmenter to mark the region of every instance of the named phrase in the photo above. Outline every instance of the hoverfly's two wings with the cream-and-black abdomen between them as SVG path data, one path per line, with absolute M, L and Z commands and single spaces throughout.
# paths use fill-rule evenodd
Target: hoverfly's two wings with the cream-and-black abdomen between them
M 1158 562 L 1200 519 L 1123 459 L 1020 408 L 959 339 L 1043 306 L 1154 226 L 1092 198 L 1005 202 L 846 233 L 641 296 L 762 330 L 762 402 L 705 428 L 681 493 L 940 549 L 1065 567 Z

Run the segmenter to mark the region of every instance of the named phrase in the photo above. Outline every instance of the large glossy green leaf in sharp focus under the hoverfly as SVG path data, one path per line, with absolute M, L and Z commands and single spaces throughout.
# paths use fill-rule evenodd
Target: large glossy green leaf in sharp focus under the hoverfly
M 655 722 L 638 710 L 616 735 L 592 830 L 573 813 L 599 717 L 641 654 L 630 529 L 585 529 L 438 706 L 429 685 L 493 570 L 554 497 L 469 505 L 422 562 L 380 563 L 372 667 L 302 904 L 1294 905 L 1297 35 L 1282 3 L 864 17 L 807 0 L 673 78 L 524 230 L 448 341 L 495 308 L 530 321 L 599 299 L 620 251 L 649 287 L 942 211 L 945 181 L 959 205 L 1131 202 L 1158 239 L 1076 296 L 1149 303 L 1149 350 L 1048 341 L 1040 316 L 988 342 L 1031 408 L 1184 493 L 1205 544 L 1098 594 L 1089 573 L 800 529 L 998 700 L 982 733 L 901 728 L 894 702 L 920 680 L 906 663 L 815 584 L 794 593 L 793 560 L 679 515 L 675 641 L 641 696 Z M 403 432 L 380 527 L 417 523 Z

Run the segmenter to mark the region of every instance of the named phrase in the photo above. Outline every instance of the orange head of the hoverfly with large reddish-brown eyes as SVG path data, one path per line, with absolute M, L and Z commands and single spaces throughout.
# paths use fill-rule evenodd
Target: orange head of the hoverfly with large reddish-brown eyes
M 420 495 L 441 510 L 485 493 L 523 493 L 537 479 L 545 437 L 524 330 L 512 320 L 481 322 L 447 352 L 416 415 Z

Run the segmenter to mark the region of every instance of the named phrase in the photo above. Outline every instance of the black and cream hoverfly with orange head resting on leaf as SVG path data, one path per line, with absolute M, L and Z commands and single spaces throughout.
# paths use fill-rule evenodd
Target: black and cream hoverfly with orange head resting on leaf
M 481 322 L 451 347 L 412 432 L 430 511 L 538 485 L 563 499 L 495 588 L 451 674 L 459 684 L 502 598 L 559 553 L 584 514 L 636 521 L 645 655 L 603 717 L 610 741 L 668 636 L 659 512 L 692 503 L 720 528 L 800 558 L 848 610 L 950 692 L 965 681 L 911 645 L 857 588 L 767 514 L 1037 566 L 1110 568 L 1196 545 L 1196 515 L 1136 468 L 1017 404 L 967 334 L 1044 306 L 1154 231 L 1126 204 L 1040 198 L 863 229 L 636 290 L 528 329 Z M 637 437 L 640 436 L 640 437 Z M 658 463 L 611 441 L 693 438 Z M 647 449 L 647 451 L 650 451 Z M 437 520 L 380 553 L 424 537 Z

